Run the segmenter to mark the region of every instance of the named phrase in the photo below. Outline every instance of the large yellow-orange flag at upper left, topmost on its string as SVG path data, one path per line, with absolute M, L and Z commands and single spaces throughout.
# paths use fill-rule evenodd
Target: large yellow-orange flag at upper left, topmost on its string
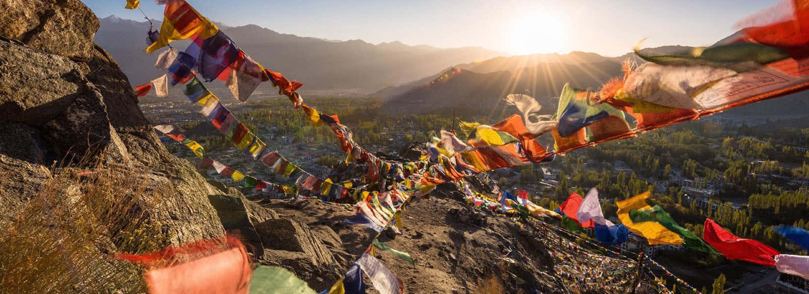
M 185 40 L 192 36 L 208 39 L 219 31 L 214 23 L 205 19 L 183 0 L 168 1 L 163 15 L 158 40 L 150 44 L 146 52 L 155 52 L 173 41 Z

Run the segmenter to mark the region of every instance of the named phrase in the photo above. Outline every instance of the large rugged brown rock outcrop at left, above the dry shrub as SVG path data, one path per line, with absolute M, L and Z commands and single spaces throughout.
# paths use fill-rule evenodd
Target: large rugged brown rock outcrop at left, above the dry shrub
M 87 6 L 0 0 L 0 11 L 0 220 L 54 165 L 101 162 L 143 178 L 141 197 L 157 203 L 144 209 L 173 243 L 225 232 L 209 197 L 227 193 L 160 144 L 129 80 L 93 43 L 99 21 Z

